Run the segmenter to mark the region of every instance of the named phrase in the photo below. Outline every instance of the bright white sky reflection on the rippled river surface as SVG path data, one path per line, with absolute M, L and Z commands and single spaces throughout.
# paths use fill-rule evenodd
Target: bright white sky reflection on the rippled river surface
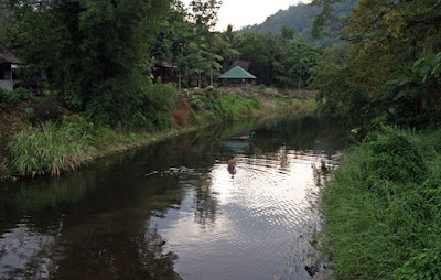
M 174 237 L 186 230 L 185 240 L 168 238 L 181 256 L 176 271 L 186 279 L 269 279 L 268 271 L 280 266 L 280 255 L 289 254 L 287 240 L 294 240 L 309 219 L 311 162 L 319 157 L 288 152 L 281 161 L 237 155 L 233 177 L 225 163 L 217 163 L 207 190 L 216 201 L 216 222 L 209 227 L 182 223 L 162 233 Z M 187 211 L 195 211 L 192 207 Z

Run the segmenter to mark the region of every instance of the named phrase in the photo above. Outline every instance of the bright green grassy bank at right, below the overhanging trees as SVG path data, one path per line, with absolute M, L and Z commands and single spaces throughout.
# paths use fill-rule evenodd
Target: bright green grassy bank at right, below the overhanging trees
M 323 193 L 335 279 L 441 279 L 441 129 L 384 128 Z

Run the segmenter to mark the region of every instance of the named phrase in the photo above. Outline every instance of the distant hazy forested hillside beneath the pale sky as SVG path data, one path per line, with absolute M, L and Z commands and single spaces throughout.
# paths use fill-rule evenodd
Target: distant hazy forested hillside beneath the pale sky
M 335 4 L 334 15 L 337 18 L 349 15 L 351 9 L 354 8 L 359 0 L 348 0 Z M 291 6 L 288 10 L 280 10 L 267 18 L 261 24 L 248 25 L 240 30 L 240 33 L 280 33 L 283 25 L 294 29 L 295 34 L 301 34 L 310 43 L 321 46 L 331 46 L 334 43 L 342 43 L 342 21 L 329 21 L 326 23 L 326 34 L 320 39 L 311 35 L 312 25 L 315 17 L 322 11 L 322 7 L 299 3 Z

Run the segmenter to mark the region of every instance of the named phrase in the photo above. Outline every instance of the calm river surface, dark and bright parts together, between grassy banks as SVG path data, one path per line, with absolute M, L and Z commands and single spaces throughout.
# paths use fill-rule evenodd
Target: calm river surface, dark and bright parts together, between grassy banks
M 0 279 L 311 279 L 321 166 L 344 147 L 330 120 L 273 117 L 3 185 Z

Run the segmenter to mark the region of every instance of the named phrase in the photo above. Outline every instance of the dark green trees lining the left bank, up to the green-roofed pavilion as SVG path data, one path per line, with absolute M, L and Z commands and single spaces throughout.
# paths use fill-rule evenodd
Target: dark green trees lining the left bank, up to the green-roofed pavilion
M 10 3 L 0 32 L 26 64 L 20 78 L 44 82 L 69 111 L 111 127 L 169 128 L 172 87 L 213 86 L 236 65 L 258 84 L 304 88 L 323 52 L 287 25 L 280 34 L 213 32 L 217 0 Z M 160 85 L 169 82 L 154 72 L 162 65 L 178 79 L 171 86 Z

